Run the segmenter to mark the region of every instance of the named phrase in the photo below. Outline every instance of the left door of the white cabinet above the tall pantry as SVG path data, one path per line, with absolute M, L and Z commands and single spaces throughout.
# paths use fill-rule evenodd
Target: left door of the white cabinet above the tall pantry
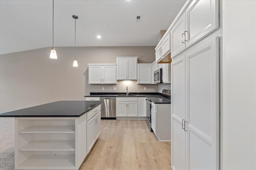
M 178 55 L 181 51 L 185 49 L 185 41 L 184 41 L 185 29 L 186 29 L 186 23 L 185 23 L 185 13 L 184 13 L 171 29 L 171 39 L 172 39 L 171 57 L 172 58 Z

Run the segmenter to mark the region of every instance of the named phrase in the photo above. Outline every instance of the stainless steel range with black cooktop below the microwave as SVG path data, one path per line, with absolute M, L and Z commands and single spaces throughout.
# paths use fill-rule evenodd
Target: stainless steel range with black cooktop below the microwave
M 146 98 L 146 123 L 148 125 L 148 129 L 152 132 L 151 128 L 151 102 L 161 103 L 163 101 L 170 101 L 171 97 L 171 90 L 162 90 L 161 97 L 154 97 L 154 98 Z M 163 102 L 164 103 L 164 102 Z

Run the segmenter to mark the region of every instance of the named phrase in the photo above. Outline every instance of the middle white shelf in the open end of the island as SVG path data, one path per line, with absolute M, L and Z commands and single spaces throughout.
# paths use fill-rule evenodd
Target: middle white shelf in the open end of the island
M 75 141 L 31 141 L 20 147 L 20 151 L 72 151 Z

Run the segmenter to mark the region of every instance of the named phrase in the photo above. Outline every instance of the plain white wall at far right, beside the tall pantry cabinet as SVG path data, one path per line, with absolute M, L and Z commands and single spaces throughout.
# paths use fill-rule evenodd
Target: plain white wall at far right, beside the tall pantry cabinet
M 223 169 L 256 169 L 256 1 L 223 1 Z

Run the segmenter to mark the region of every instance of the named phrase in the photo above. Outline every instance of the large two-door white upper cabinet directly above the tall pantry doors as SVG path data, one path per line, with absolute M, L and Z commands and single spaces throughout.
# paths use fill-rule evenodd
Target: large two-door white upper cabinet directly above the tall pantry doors
M 172 58 L 219 27 L 218 0 L 193 0 L 172 25 Z

